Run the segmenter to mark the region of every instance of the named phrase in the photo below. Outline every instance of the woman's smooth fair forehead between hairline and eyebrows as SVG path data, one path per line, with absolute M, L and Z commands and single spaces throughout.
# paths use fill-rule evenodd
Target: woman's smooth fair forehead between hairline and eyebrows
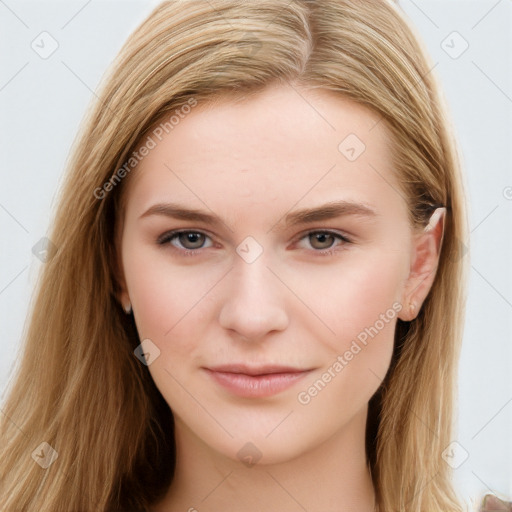
M 127 191 L 139 214 L 166 200 L 221 210 L 320 198 L 403 202 L 385 123 L 331 91 L 279 85 L 247 99 L 226 95 L 155 129 Z

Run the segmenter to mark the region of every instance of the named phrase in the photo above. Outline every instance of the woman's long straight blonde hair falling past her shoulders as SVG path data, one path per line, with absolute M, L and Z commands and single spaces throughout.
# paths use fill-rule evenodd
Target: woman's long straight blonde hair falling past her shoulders
M 418 317 L 398 321 L 390 370 L 370 402 L 367 453 L 381 512 L 462 510 L 441 454 L 452 440 L 467 221 L 460 157 L 431 68 L 391 0 L 154 9 L 104 77 L 59 191 L 48 235 L 56 251 L 39 276 L 0 415 L 1 510 L 143 510 L 167 490 L 172 413 L 133 354 L 140 341 L 118 299 L 125 164 L 155 123 L 185 105 L 276 82 L 335 91 L 378 113 L 411 223 L 447 207 L 434 284 Z M 31 457 L 42 442 L 58 453 L 47 469 Z

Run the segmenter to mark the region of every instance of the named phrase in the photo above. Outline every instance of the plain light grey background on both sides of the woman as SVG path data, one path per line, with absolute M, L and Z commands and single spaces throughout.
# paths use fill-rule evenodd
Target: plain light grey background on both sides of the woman
M 42 265 L 32 247 L 48 229 L 70 145 L 101 75 L 157 3 L 0 0 L 4 394 Z M 447 460 L 458 466 L 456 484 L 468 504 L 486 492 L 512 499 L 512 0 L 400 4 L 425 40 L 444 86 L 470 202 L 472 267 L 458 444 Z M 40 35 L 44 31 L 58 44 L 47 58 L 31 46 L 51 49 L 52 39 Z

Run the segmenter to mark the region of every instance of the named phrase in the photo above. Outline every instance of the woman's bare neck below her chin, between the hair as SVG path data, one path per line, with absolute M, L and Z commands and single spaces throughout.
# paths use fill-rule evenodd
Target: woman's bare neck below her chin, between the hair
M 374 511 L 366 464 L 367 408 L 313 450 L 247 467 L 214 452 L 176 421 L 176 471 L 154 512 Z

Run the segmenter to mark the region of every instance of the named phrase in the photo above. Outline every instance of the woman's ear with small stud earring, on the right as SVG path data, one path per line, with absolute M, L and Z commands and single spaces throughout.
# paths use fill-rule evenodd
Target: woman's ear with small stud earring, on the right
M 418 315 L 436 277 L 443 245 L 446 208 L 437 208 L 427 227 L 414 236 L 411 266 L 403 294 L 400 320 L 410 322 Z

